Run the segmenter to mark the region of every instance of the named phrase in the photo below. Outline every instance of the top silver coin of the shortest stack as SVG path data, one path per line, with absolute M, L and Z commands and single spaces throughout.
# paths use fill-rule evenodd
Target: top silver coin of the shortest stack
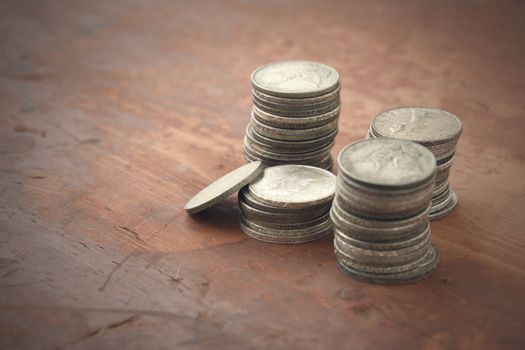
M 283 208 L 305 208 L 331 202 L 335 179 L 334 174 L 320 168 L 282 165 L 266 168 L 248 188 L 259 202 Z

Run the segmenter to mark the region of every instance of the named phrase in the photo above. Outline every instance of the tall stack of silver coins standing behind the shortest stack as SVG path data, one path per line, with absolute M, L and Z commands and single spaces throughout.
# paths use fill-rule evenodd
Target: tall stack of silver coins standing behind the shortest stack
M 341 110 L 337 71 L 316 62 L 285 61 L 256 69 L 251 79 L 245 159 L 330 169 Z

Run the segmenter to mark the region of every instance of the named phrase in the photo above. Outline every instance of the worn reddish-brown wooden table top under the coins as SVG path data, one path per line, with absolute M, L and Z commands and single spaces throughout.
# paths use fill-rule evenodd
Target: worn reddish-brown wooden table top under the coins
M 1 349 L 482 349 L 525 344 L 520 1 L 3 1 Z M 183 204 L 243 164 L 250 73 L 335 67 L 333 154 L 398 105 L 465 130 L 439 270 L 355 281 L 332 238 L 265 244 L 235 198 Z

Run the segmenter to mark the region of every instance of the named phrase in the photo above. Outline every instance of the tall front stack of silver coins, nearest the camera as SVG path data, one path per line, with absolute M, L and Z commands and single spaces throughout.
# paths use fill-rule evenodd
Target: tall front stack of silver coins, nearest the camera
M 338 265 L 370 283 L 420 280 L 437 267 L 428 211 L 436 160 L 414 142 L 377 139 L 352 143 L 338 158 L 330 211 Z

